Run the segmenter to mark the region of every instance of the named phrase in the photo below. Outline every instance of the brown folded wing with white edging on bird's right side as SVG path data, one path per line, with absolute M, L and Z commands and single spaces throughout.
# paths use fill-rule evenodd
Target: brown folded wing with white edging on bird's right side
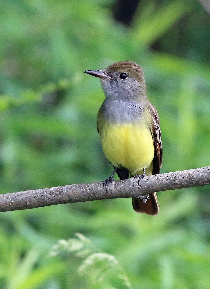
M 157 110 L 149 103 L 149 110 L 152 115 L 152 135 L 153 135 L 153 143 L 155 148 L 155 155 L 153 159 L 153 175 L 160 173 L 160 168 L 162 165 L 162 142 L 161 142 L 161 130 L 160 130 L 160 123 L 159 123 L 159 116 Z

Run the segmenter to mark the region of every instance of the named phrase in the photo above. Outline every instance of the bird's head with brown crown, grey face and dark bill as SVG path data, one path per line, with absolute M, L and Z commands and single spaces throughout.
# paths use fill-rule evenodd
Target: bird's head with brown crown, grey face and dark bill
M 99 77 L 106 97 L 119 99 L 146 98 L 146 85 L 142 68 L 131 61 L 120 61 L 103 70 L 85 73 Z

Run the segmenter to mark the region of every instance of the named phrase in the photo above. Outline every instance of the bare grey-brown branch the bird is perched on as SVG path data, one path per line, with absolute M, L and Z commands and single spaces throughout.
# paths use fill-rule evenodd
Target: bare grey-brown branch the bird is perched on
M 103 187 L 103 182 L 97 182 L 0 194 L 0 212 L 65 203 L 139 197 L 152 192 L 205 186 L 210 184 L 210 166 L 146 176 L 140 181 L 139 186 L 137 182 L 138 179 L 133 177 L 114 181 L 108 193 Z

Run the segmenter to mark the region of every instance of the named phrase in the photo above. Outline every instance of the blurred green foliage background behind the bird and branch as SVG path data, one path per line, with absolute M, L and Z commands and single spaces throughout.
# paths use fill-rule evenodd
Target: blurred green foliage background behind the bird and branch
M 207 0 L 1 0 L 0 192 L 107 179 L 96 130 L 104 95 L 84 71 L 121 60 L 144 69 L 161 172 L 208 166 L 209 13 Z M 0 288 L 209 289 L 209 190 L 159 192 L 155 217 L 130 199 L 1 213 Z M 97 268 L 79 276 L 73 253 L 48 257 L 75 232 L 115 256 L 131 285 L 114 270 L 101 282 Z

